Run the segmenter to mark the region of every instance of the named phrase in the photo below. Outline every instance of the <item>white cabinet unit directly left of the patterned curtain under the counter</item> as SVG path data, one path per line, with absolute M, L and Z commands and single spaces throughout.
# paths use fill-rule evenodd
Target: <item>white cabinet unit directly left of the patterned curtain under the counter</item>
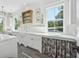
M 41 52 L 42 48 L 42 36 L 40 35 L 34 35 L 34 34 L 26 34 L 23 38 L 23 44 L 24 46 L 29 46 L 31 48 L 37 49 L 39 52 Z

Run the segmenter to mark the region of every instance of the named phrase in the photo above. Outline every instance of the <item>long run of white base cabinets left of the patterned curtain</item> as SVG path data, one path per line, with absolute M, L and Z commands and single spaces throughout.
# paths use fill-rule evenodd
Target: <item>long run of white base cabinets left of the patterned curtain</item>
M 31 48 L 37 49 L 39 52 L 42 50 L 42 35 L 30 34 L 30 33 L 7 33 L 12 34 L 17 37 L 20 44 L 24 46 L 29 46 Z

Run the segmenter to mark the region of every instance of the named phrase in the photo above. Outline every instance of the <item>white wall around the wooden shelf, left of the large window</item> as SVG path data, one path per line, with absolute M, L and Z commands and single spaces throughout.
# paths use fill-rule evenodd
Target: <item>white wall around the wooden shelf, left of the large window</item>
M 53 3 L 52 3 L 53 2 Z M 60 0 L 60 2 L 62 2 L 62 0 Z M 48 29 L 47 29 L 47 19 L 46 19 L 46 8 L 48 7 L 48 5 L 54 5 L 54 3 L 58 3 L 57 1 L 55 0 L 51 0 L 51 2 L 49 1 L 38 1 L 36 3 L 32 3 L 32 4 L 29 4 L 29 5 L 26 5 L 24 6 L 22 9 L 20 9 L 19 11 L 17 11 L 17 14 L 18 16 L 20 16 L 21 20 L 22 20 L 22 12 L 26 11 L 26 10 L 29 10 L 29 9 L 32 9 L 33 10 L 33 22 L 32 23 L 28 23 L 28 24 L 21 24 L 21 28 L 20 28 L 20 31 L 24 31 L 24 32 L 45 32 L 47 33 L 48 32 Z M 41 11 L 42 11 L 42 14 L 44 15 L 44 23 L 43 25 L 38 25 L 36 24 L 35 20 L 35 9 L 37 8 L 40 8 Z

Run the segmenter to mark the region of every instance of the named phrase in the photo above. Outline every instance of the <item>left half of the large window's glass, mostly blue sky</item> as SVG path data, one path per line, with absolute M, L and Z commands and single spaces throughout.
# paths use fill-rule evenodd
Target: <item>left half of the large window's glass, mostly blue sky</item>
M 48 9 L 48 31 L 54 31 L 55 27 L 55 8 Z

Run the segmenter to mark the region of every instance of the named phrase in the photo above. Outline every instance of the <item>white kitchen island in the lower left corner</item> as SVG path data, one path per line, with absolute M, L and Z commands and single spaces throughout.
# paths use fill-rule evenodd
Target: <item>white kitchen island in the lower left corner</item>
M 18 56 L 16 40 L 16 38 L 0 40 L 0 58 L 16 58 Z

